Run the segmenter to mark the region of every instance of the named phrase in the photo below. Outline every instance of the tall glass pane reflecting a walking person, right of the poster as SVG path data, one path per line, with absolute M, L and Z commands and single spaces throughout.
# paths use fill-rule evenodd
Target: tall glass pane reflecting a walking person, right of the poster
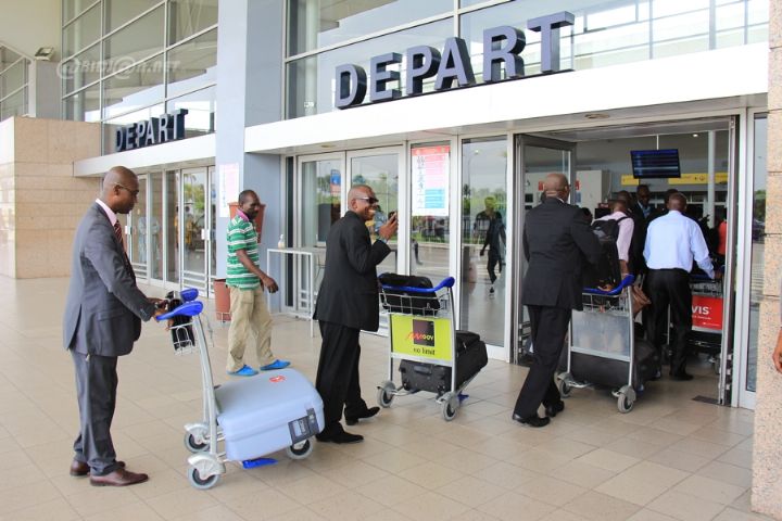
M 462 321 L 488 344 L 505 342 L 507 141 L 462 144 Z

